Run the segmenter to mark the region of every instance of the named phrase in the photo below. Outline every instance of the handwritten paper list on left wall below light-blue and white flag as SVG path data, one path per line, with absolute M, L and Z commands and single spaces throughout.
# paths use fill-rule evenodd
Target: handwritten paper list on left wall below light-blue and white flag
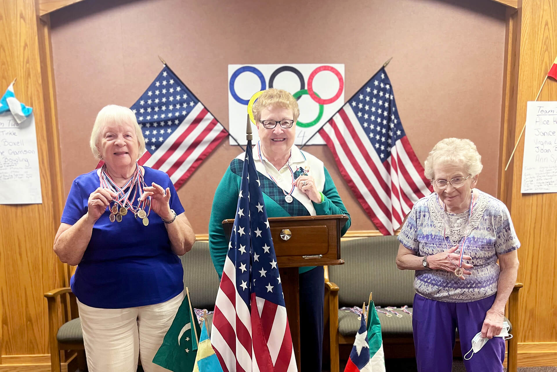
M 0 204 L 42 203 L 35 116 L 0 114 Z

